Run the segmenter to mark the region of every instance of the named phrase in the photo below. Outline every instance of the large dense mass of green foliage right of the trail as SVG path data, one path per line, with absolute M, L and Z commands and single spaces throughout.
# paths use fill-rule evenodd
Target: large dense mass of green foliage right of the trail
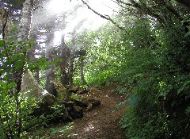
M 128 96 L 121 121 L 127 138 L 188 138 L 190 39 L 185 32 L 189 26 L 182 24 L 188 22 L 187 11 L 176 11 L 181 16 L 177 18 L 171 12 L 176 6 L 173 2 L 137 4 L 144 16 L 128 15 L 132 21 L 126 32 L 107 25 L 86 35 L 85 40 L 91 42 L 85 59 L 86 79 L 96 85 L 115 82 L 114 91 Z M 152 13 L 147 16 L 146 10 Z

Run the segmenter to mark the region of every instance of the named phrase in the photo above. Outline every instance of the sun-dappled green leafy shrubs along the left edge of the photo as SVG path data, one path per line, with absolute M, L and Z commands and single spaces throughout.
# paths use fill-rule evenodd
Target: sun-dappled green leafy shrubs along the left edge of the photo
M 22 70 L 25 62 L 24 53 L 31 47 L 31 43 L 1 41 L 0 45 L 0 131 L 2 138 L 18 138 L 30 125 L 32 117 L 29 114 L 36 106 L 34 99 L 23 98 L 16 92 L 16 82 L 14 82 L 14 75 Z M 15 53 L 18 49 L 22 51 Z

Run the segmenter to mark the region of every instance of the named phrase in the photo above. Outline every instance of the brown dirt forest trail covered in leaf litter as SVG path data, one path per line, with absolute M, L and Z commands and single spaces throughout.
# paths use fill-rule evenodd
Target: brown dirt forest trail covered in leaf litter
M 85 97 L 98 99 L 101 105 L 75 120 L 67 136 L 57 135 L 56 139 L 124 139 L 119 121 L 125 108 L 116 108 L 124 100 L 123 96 L 112 93 L 110 88 L 104 88 L 92 89 Z

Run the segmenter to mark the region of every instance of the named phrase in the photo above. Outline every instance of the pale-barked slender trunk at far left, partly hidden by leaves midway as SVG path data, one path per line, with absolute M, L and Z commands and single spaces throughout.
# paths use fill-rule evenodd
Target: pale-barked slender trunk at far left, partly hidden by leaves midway
M 33 0 L 26 0 L 23 3 L 22 9 L 22 17 L 20 21 L 20 32 L 18 33 L 18 41 L 27 41 L 30 36 L 31 30 L 31 16 L 32 16 L 32 9 L 33 9 Z M 20 138 L 21 130 L 22 130 L 22 121 L 20 117 L 21 109 L 20 109 L 20 101 L 19 101 L 19 92 L 21 91 L 21 82 L 22 82 L 22 75 L 24 71 L 24 65 L 26 63 L 26 53 L 23 52 L 22 48 L 17 48 L 18 53 L 23 53 L 23 61 L 20 65 L 20 68 L 15 67 L 14 73 L 14 80 L 16 83 L 16 92 L 15 92 L 15 100 L 16 100 L 16 126 L 17 126 L 17 137 Z

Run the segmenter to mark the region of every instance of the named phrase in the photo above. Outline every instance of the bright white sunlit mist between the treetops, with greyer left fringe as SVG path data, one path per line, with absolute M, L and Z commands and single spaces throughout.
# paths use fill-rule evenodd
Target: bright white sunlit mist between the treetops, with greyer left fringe
M 104 15 L 111 16 L 117 9 L 111 0 L 90 0 L 88 3 Z M 97 30 L 106 22 L 80 0 L 45 0 L 34 10 L 32 30 L 38 32 L 38 44 L 47 50 L 60 45 L 63 39 L 71 40 L 80 32 Z

